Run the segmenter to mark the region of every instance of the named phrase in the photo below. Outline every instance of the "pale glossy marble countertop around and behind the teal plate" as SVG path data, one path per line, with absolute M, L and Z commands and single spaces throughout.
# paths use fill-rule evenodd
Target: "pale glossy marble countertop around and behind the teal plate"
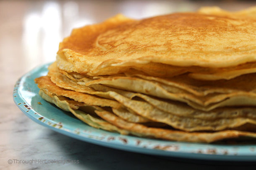
M 13 102 L 16 80 L 34 67 L 54 61 L 58 43 L 68 36 L 72 28 L 103 21 L 116 13 L 142 18 L 173 11 L 196 10 L 204 5 L 237 10 L 256 3 L 243 1 L 230 5 L 223 1 L 215 4 L 188 0 L 179 3 L 162 0 L 0 1 L 0 169 L 215 170 L 227 164 L 232 170 L 245 166 L 246 169 L 255 169 L 255 165 L 240 165 L 238 162 L 154 157 L 97 146 L 35 123 Z M 39 162 L 46 159 L 76 163 Z

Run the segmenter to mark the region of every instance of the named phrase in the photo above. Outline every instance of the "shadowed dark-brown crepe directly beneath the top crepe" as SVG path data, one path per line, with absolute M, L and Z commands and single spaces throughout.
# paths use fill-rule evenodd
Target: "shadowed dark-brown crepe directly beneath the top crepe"
M 50 72 L 59 72 L 74 82 L 90 82 L 89 79 L 104 79 L 115 77 L 139 77 L 144 80 L 150 80 L 157 83 L 169 92 L 179 93 L 192 93 L 196 96 L 205 96 L 211 93 L 233 93 L 233 92 L 249 92 L 256 93 L 256 74 L 246 74 L 231 80 L 218 80 L 218 81 L 201 81 L 190 78 L 189 75 L 183 74 L 171 78 L 152 77 L 144 74 L 143 72 L 129 71 L 124 74 L 112 76 L 85 76 L 76 72 L 68 73 L 63 70 L 57 70 L 56 64 L 52 64 Z M 54 67 L 54 68 L 53 68 Z M 89 79 L 88 79 L 89 78 Z

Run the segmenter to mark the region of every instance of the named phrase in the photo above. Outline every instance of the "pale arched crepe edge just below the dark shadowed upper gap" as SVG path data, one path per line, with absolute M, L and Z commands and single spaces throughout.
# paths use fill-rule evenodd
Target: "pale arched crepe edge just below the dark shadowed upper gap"
M 190 106 L 191 103 L 195 103 L 199 106 L 209 106 L 211 104 L 220 103 L 226 99 L 230 99 L 234 103 L 238 103 L 238 101 L 240 102 L 240 99 L 243 99 L 243 103 L 240 103 L 240 106 L 256 106 L 256 93 L 248 93 L 244 91 L 227 94 L 209 94 L 198 97 L 193 94 L 186 93 L 183 90 L 178 90 L 177 88 L 168 87 L 154 81 L 143 80 L 136 77 L 102 78 L 99 80 L 89 81 L 85 85 L 90 87 L 94 84 L 107 85 L 113 88 L 143 93 L 159 98 L 178 100 L 187 103 Z

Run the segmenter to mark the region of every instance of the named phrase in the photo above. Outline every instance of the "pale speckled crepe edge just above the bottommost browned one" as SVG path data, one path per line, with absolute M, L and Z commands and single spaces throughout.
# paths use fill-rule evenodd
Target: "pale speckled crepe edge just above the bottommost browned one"
M 158 108 L 154 108 L 146 102 L 130 100 L 115 92 L 110 92 L 109 94 L 112 98 L 115 98 L 124 106 L 136 112 L 138 115 L 149 118 L 152 121 L 168 124 L 175 129 L 182 129 L 185 131 L 219 131 L 223 129 L 232 129 L 244 124 L 256 125 L 256 119 L 251 119 L 248 117 L 202 120 L 199 118 L 175 116 L 173 114 L 161 111 Z

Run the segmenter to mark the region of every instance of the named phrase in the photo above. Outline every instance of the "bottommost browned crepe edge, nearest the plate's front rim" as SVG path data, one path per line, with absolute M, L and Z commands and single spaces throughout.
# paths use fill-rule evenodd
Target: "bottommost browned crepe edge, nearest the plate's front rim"
M 185 142 L 205 142 L 211 143 L 223 139 L 238 138 L 238 137 L 252 137 L 256 138 L 256 133 L 245 132 L 245 131 L 235 131 L 226 130 L 213 133 L 206 132 L 185 132 L 176 131 L 169 129 L 160 128 L 149 128 L 147 126 L 135 123 L 129 123 L 123 119 L 118 118 L 114 114 L 107 111 L 95 111 L 104 120 L 118 126 L 120 128 L 126 129 L 128 131 L 133 131 L 146 137 L 156 137 L 160 139 L 175 140 L 175 141 L 185 141 Z

